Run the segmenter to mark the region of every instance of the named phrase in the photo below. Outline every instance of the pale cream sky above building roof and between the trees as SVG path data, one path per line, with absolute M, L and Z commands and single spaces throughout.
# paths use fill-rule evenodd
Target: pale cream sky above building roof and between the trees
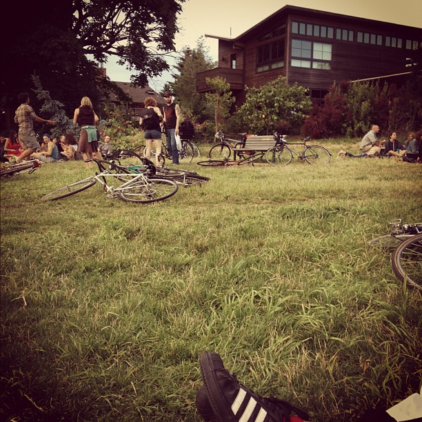
M 199 37 L 205 34 L 238 37 L 286 5 L 421 28 L 422 0 L 289 0 L 287 3 L 280 0 L 186 0 L 178 17 L 180 31 L 175 38 L 176 48 L 180 51 L 184 46 L 195 47 Z M 205 47 L 217 61 L 217 39 L 205 38 Z M 125 66 L 110 60 L 104 67 L 112 81 L 130 81 L 130 72 Z M 160 91 L 165 82 L 172 80 L 170 72 L 165 72 L 150 80 L 150 87 Z

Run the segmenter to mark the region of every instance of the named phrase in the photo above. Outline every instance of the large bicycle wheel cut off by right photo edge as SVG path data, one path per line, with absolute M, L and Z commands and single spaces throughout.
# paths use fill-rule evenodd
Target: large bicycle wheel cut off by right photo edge
M 391 263 L 399 280 L 422 290 L 422 233 L 403 241 L 394 250 Z

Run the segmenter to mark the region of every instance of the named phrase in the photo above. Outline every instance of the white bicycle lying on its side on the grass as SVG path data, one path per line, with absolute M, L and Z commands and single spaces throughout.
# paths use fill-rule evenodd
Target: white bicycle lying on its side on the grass
M 108 198 L 119 197 L 126 202 L 150 203 L 162 201 L 172 197 L 177 190 L 178 185 L 174 181 L 168 179 L 150 178 L 144 173 L 130 173 L 125 168 L 113 163 L 112 161 L 103 161 L 92 159 L 97 163 L 99 173 L 94 176 L 87 177 L 81 181 L 71 183 L 63 188 L 54 190 L 42 197 L 43 201 L 56 201 L 70 197 L 91 188 L 97 182 L 101 183 L 104 192 Z M 114 179 L 121 185 L 114 187 L 108 183 L 108 180 Z

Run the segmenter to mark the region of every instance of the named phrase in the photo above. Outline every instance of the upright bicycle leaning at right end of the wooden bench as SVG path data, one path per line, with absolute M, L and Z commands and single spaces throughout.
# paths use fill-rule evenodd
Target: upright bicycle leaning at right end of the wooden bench
M 310 138 L 303 138 L 301 142 L 288 142 L 286 135 L 279 136 L 277 144 L 265 153 L 265 159 L 272 165 L 287 165 L 292 162 L 293 155 L 297 156 L 299 161 L 306 161 L 310 164 L 330 163 L 331 154 L 320 145 L 308 145 Z M 302 145 L 301 152 L 292 149 L 292 145 Z

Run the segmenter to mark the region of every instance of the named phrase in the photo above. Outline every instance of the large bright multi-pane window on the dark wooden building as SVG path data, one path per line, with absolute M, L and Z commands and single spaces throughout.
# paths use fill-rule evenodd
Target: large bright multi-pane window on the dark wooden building
M 297 68 L 331 69 L 332 45 L 292 39 L 292 66 Z

